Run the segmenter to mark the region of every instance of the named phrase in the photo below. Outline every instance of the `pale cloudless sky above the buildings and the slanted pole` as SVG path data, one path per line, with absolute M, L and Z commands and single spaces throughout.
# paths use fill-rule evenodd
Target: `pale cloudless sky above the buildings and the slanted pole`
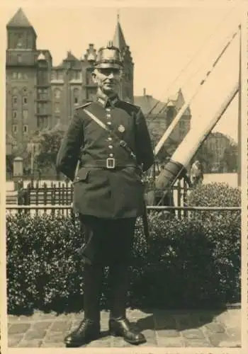
M 73 0 L 52 1 L 51 6 L 41 5 L 45 4 L 44 1 L 33 1 L 33 5 L 27 0 L 9 2 L 11 4 L 6 2 L 1 11 L 3 24 L 6 25 L 21 6 L 38 35 L 38 49 L 49 49 L 53 64 L 59 64 L 67 50 L 81 57 L 89 43 L 94 43 L 98 49 L 113 38 L 116 6 L 86 8 L 80 7 L 79 3 L 76 6 Z M 143 88 L 146 88 L 147 94 L 162 101 L 166 101 L 168 94 L 176 92 L 180 86 L 186 100 L 191 98 L 239 23 L 240 11 L 233 5 L 232 9 L 230 6 L 124 8 L 122 4 L 125 5 L 125 1 L 118 3 L 120 24 L 135 62 L 135 96 L 142 95 Z M 186 72 L 179 76 L 191 59 L 193 62 Z M 238 80 L 238 64 L 237 35 L 191 103 L 192 126 L 202 127 L 203 122 L 213 118 Z M 196 70 L 197 74 L 192 76 Z M 177 76 L 179 79 L 171 85 Z M 237 108 L 236 97 L 215 127 L 215 131 L 230 135 L 236 141 Z

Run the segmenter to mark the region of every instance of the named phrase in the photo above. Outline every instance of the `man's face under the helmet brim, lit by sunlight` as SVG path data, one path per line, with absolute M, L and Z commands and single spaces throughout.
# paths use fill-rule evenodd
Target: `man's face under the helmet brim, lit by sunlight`
M 120 69 L 104 68 L 94 69 L 92 74 L 98 88 L 106 95 L 116 93 L 120 84 Z

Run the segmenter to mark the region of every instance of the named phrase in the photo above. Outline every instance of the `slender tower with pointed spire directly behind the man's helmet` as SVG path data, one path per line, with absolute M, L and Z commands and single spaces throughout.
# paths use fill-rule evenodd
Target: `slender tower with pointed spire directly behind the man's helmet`
M 120 26 L 120 16 L 117 16 L 117 25 L 115 28 L 115 34 L 113 36 L 113 45 L 118 47 L 120 55 L 123 58 L 124 70 L 123 81 L 120 84 L 120 98 L 124 101 L 133 103 L 133 58 L 131 56 L 130 48 L 125 42 L 123 30 Z

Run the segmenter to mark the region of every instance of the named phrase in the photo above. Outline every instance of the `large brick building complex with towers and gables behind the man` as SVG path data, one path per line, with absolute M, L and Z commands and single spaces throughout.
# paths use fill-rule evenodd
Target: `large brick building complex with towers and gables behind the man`
M 50 50 L 36 47 L 37 33 L 21 8 L 6 25 L 6 30 L 6 154 L 10 155 L 13 142 L 25 146 L 30 135 L 37 130 L 66 126 L 76 105 L 85 99 L 94 100 L 96 85 L 91 79 L 91 71 L 96 48 L 89 44 L 80 59 L 67 52 L 60 65 L 53 66 Z M 113 45 L 120 49 L 124 63 L 120 98 L 140 105 L 147 116 L 150 131 L 160 137 L 184 103 L 181 91 L 169 100 L 166 109 L 163 108 L 165 103 L 145 92 L 143 96 L 134 97 L 134 63 L 119 19 Z M 176 142 L 186 135 L 190 119 L 190 110 L 186 110 L 171 135 Z

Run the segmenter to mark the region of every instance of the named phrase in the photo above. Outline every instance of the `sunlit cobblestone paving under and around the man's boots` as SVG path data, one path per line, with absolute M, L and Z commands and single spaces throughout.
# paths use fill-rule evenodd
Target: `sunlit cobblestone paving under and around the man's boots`
M 9 316 L 9 347 L 61 348 L 64 336 L 83 318 L 83 313 Z M 241 347 L 241 310 L 142 312 L 128 309 L 128 318 L 136 323 L 147 338 L 141 346 L 150 347 Z M 127 347 L 123 338 L 108 334 L 108 312 L 101 312 L 101 338 L 87 347 Z

